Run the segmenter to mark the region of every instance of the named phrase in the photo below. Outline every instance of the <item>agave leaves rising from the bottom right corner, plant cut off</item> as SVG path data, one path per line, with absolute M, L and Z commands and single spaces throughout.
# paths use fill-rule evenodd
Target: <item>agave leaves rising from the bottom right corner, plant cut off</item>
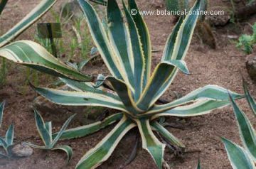
M 243 84 L 245 97 L 247 99 L 253 114 L 256 116 L 256 104 L 252 95 L 247 89 L 247 84 Z M 222 138 L 225 145 L 225 150 L 228 153 L 228 158 L 233 168 L 255 168 L 256 163 L 256 132 L 250 120 L 245 113 L 239 109 L 234 99 L 230 96 L 230 100 L 233 105 L 235 119 L 238 123 L 240 138 L 242 140 L 242 146 L 233 143 L 232 141 Z

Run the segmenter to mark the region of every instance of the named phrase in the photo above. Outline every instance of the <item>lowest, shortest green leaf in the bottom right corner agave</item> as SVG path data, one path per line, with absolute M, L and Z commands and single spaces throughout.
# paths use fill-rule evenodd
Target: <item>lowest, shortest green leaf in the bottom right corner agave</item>
M 234 169 L 255 169 L 255 164 L 245 150 L 228 139 L 222 138 L 222 141 L 225 145 L 225 150 L 228 153 L 230 163 Z

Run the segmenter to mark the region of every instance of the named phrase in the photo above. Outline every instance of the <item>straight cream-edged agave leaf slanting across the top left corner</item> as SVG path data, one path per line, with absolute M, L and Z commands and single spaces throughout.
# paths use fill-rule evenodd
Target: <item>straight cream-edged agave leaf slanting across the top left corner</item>
M 30 13 L 28 13 L 25 18 L 6 32 L 3 36 L 0 37 L 0 48 L 9 43 L 11 40 L 16 38 L 20 33 L 25 31 L 29 26 L 35 23 L 43 14 L 45 14 L 57 0 L 42 0 L 38 6 L 36 6 Z M 5 6 L 6 0 L 1 1 L 0 4 L 0 14 L 2 6 Z

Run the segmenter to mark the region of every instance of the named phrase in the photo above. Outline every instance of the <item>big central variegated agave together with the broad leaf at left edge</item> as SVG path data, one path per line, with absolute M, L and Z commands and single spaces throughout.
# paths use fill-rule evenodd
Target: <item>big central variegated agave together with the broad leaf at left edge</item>
M 139 129 L 143 148 L 151 154 L 158 168 L 162 168 L 165 145 L 156 138 L 153 131 L 159 132 L 176 146 L 183 147 L 183 144 L 156 121 L 159 117 L 198 116 L 230 104 L 228 91 L 214 85 L 196 89 L 169 104 L 156 104 L 174 80 L 178 70 L 188 74 L 183 59 L 198 20 L 196 11 L 202 9 L 203 1 L 196 1 L 191 9 L 193 15 L 179 19 L 167 40 L 162 60 L 152 74 L 149 31 L 139 12 L 136 15 L 129 13 L 130 10 L 139 11 L 134 0 L 128 0 L 129 9 L 123 2 L 125 21 L 117 2 L 107 1 L 107 32 L 90 3 L 86 0 L 79 0 L 79 3 L 95 45 L 111 73 L 111 76 L 105 77 L 104 80 L 110 82 L 114 91 L 103 86 L 95 87 L 92 82 L 82 82 L 93 78 L 59 62 L 40 45 L 31 41 L 7 45 L 0 50 L 0 55 L 61 77 L 63 82 L 75 90 L 34 87 L 36 92 L 51 102 L 73 106 L 108 107 L 120 111 L 103 121 L 64 131 L 61 139 L 79 138 L 119 121 L 95 148 L 81 158 L 76 168 L 99 166 L 111 156 L 122 137 L 134 127 Z M 242 97 L 240 94 L 230 93 L 235 99 Z

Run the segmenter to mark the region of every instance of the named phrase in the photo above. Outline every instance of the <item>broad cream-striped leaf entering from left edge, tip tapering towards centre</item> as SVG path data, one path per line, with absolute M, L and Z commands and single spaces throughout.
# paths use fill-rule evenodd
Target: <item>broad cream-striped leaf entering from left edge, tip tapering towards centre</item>
M 92 77 L 82 75 L 77 70 L 63 64 L 38 43 L 21 40 L 0 48 L 0 56 L 27 67 L 57 77 L 78 81 L 92 81 Z

